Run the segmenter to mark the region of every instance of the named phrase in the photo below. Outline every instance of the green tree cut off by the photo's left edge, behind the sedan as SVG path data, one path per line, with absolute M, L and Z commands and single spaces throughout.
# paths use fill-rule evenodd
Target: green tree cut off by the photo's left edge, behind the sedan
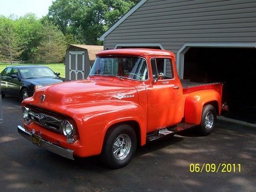
M 0 16 L 0 57 L 1 60 L 13 63 L 23 51 L 22 41 L 15 32 L 14 21 Z

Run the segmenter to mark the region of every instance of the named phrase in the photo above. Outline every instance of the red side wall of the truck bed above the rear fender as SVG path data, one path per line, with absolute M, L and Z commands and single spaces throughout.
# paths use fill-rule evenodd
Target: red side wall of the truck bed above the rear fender
M 221 82 L 199 83 L 199 82 L 192 82 L 188 79 L 180 79 L 180 81 L 183 87 L 183 94 L 188 94 L 194 91 L 207 90 L 207 89 L 214 89 L 219 93 L 221 93 L 221 90 L 222 90 Z

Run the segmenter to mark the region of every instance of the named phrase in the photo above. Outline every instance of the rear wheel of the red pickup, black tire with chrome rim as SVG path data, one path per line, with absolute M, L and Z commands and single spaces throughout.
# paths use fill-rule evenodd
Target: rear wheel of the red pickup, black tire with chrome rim
M 201 125 L 199 133 L 209 135 L 214 130 L 216 123 L 216 110 L 211 104 L 205 105 L 202 110 Z

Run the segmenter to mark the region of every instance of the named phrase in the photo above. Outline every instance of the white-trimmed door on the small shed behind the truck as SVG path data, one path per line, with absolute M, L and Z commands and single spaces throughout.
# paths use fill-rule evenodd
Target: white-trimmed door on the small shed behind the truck
M 69 52 L 69 77 L 71 80 L 84 79 L 84 51 Z

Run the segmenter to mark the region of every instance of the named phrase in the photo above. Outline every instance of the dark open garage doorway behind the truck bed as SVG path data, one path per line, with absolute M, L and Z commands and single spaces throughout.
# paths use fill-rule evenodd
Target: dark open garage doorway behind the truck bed
M 233 119 L 256 123 L 256 49 L 189 48 L 184 54 L 183 79 L 225 82 L 223 102 Z

